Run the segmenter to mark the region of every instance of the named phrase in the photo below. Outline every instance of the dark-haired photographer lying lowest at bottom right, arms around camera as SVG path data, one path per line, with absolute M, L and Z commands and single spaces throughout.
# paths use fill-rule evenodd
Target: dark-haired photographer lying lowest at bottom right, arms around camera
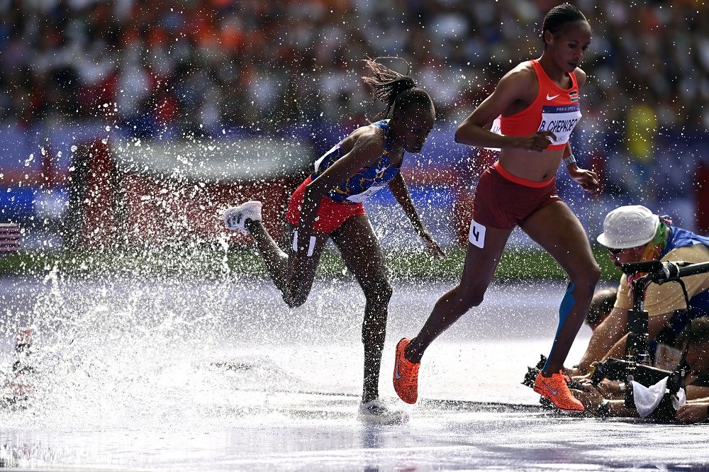
M 677 347 L 685 354 L 688 373 L 685 377 L 686 384 L 705 383 L 709 376 L 709 318 L 698 318 L 693 320 L 683 330 L 677 340 Z M 574 390 L 574 396 L 584 403 L 586 411 L 596 416 L 613 417 L 639 417 L 640 413 L 635 408 L 627 408 L 625 400 L 618 398 L 618 395 L 602 393 L 603 388 L 594 387 L 591 379 L 581 380 L 581 386 L 585 391 Z M 691 388 L 691 387 L 690 387 Z M 649 389 L 648 389 L 649 390 Z M 659 390 L 656 395 L 667 395 Z M 660 398 L 656 399 L 660 403 Z M 636 405 L 647 401 L 638 401 L 636 395 Z M 669 404 L 669 402 L 667 402 Z M 639 408 L 642 405 L 639 405 Z M 653 407 L 650 407 L 653 408 Z M 653 408 L 654 409 L 654 408 Z M 652 414 L 654 412 L 651 412 Z M 683 423 L 695 423 L 706 421 L 709 413 L 709 397 L 688 400 L 687 403 L 679 406 L 674 413 L 675 420 Z M 648 416 L 648 415 L 643 415 Z

